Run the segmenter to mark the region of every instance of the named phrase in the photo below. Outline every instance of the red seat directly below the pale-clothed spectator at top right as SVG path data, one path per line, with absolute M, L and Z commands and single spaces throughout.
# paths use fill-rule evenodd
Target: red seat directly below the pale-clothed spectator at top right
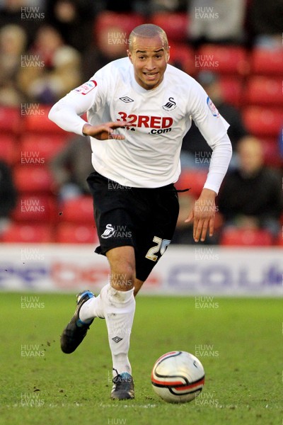
M 203 45 L 195 55 L 195 67 L 197 72 L 206 69 L 218 74 L 246 75 L 247 53 L 239 46 Z

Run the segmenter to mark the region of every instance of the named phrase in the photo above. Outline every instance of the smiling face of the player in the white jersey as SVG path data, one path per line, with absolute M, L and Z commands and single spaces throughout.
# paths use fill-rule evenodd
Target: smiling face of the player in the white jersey
M 129 60 L 134 65 L 134 77 L 146 90 L 155 89 L 163 80 L 169 60 L 169 47 L 164 47 L 163 40 L 136 37 L 132 49 L 127 51 Z

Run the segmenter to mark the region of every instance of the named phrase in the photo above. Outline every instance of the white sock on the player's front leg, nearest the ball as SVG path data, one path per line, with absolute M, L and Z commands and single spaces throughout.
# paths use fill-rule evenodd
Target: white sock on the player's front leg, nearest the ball
M 122 372 L 132 374 L 128 351 L 134 310 L 136 308 L 134 289 L 127 291 L 115 290 L 109 285 L 106 290 L 103 288 L 101 292 L 103 292 L 103 312 L 112 353 L 113 376 Z

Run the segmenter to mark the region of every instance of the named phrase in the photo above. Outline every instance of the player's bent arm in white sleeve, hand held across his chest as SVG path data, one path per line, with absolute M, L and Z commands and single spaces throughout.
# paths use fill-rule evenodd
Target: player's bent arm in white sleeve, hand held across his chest
M 52 106 L 48 118 L 68 132 L 77 135 L 89 135 L 99 140 L 123 140 L 123 135 L 114 134 L 114 130 L 125 126 L 124 121 L 91 125 L 81 115 L 101 102 L 95 80 L 87 81 Z

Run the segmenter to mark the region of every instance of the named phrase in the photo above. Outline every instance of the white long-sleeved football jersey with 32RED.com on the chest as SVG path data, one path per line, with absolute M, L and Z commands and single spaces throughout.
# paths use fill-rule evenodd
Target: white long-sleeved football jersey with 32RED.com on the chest
M 202 86 L 185 72 L 168 64 L 161 84 L 146 90 L 135 80 L 127 57 L 115 60 L 57 102 L 50 119 L 81 135 L 86 121 L 79 115 L 86 111 L 91 125 L 127 120 L 126 128 L 115 130 L 125 140 L 91 137 L 92 164 L 106 178 L 140 188 L 178 180 L 183 136 L 194 120 L 209 146 L 218 149 L 218 168 L 217 155 L 212 155 L 211 176 L 204 185 L 218 192 L 231 157 L 229 124 Z

